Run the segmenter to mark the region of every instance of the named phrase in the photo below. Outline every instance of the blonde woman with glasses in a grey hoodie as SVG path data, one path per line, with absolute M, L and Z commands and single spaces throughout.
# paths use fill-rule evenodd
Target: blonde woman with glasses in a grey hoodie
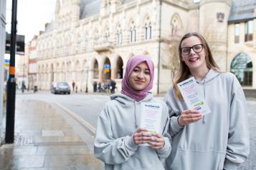
M 185 34 L 179 44 L 180 68 L 166 94 L 172 150 L 167 169 L 235 170 L 250 152 L 246 101 L 234 74 L 219 71 L 207 41 Z M 194 76 L 196 92 L 211 111 L 189 109 L 177 84 Z

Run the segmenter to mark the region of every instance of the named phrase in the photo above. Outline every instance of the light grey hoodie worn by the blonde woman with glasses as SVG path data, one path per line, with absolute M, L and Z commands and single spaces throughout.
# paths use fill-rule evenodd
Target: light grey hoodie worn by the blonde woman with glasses
M 235 170 L 250 152 L 246 101 L 239 81 L 231 73 L 210 70 L 197 81 L 197 91 L 212 113 L 187 126 L 179 126 L 177 118 L 188 109 L 176 98 L 171 87 L 166 94 L 169 107 L 172 150 L 166 160 L 167 169 Z

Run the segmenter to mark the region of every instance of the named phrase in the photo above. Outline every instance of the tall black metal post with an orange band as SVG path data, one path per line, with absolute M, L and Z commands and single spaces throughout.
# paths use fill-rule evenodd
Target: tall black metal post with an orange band
M 7 81 L 7 102 L 6 102 L 6 144 L 14 143 L 14 118 L 15 118 L 15 54 L 16 54 L 16 16 L 17 16 L 17 0 L 12 0 L 11 11 L 11 51 L 9 79 Z

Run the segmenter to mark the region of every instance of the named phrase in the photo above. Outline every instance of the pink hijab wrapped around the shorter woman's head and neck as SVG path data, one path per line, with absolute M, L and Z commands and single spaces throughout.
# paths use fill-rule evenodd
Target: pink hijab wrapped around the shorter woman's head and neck
M 148 86 L 146 86 L 143 90 L 135 90 L 133 89 L 129 84 L 129 77 L 131 75 L 131 72 L 133 69 L 138 66 L 138 64 L 141 64 L 142 62 L 146 62 L 148 65 L 149 73 L 150 73 L 150 81 Z M 153 61 L 149 59 L 147 56 L 143 55 L 136 55 L 131 57 L 131 59 L 128 60 L 126 64 L 125 69 L 125 76 L 122 80 L 122 94 L 125 94 L 126 96 L 131 97 L 132 99 L 135 99 L 136 101 L 141 101 L 146 97 L 148 94 L 148 91 L 151 90 L 153 87 Z

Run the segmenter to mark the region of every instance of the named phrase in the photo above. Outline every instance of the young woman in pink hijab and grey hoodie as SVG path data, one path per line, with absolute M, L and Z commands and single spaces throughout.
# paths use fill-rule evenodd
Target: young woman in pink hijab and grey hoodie
M 121 93 L 110 96 L 101 111 L 94 154 L 105 163 L 105 169 L 164 169 L 163 159 L 171 152 L 169 114 L 166 104 L 149 92 L 153 75 L 151 59 L 133 56 L 126 65 Z M 142 108 L 146 106 L 161 108 L 156 133 L 141 128 Z M 150 121 L 148 124 L 156 120 Z

